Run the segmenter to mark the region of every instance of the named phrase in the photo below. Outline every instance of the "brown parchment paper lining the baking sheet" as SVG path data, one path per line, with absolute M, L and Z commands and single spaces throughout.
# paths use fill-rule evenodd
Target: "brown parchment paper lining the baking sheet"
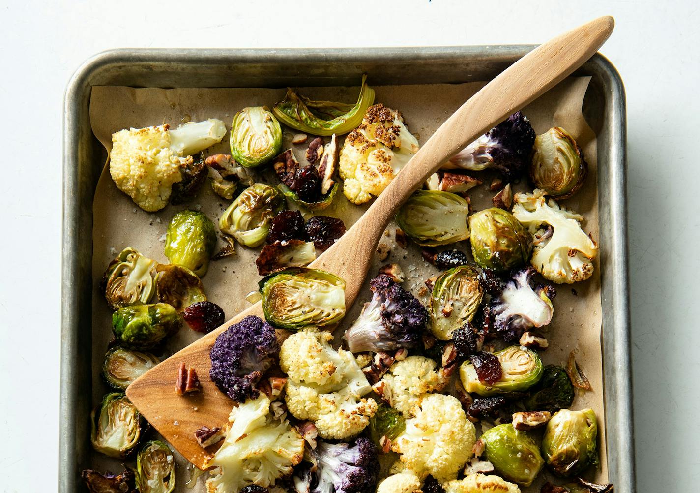
M 589 164 L 589 176 L 582 190 L 570 200 L 564 202 L 566 207 L 585 216 L 584 230 L 591 232 L 597 239 L 598 235 L 598 207 L 596 193 L 596 137 L 582 116 L 582 101 L 588 87 L 589 78 L 568 78 L 550 90 L 546 95 L 527 106 L 523 112 L 531 120 L 535 131 L 540 134 L 549 127 L 561 126 L 573 134 L 579 145 L 584 149 Z M 458 85 L 395 85 L 374 87 L 377 92 L 375 102 L 381 102 L 402 112 L 409 130 L 416 134 L 421 144 L 430 137 L 454 110 L 466 99 L 473 95 L 484 83 L 465 83 Z M 92 89 L 90 100 L 90 121 L 92 130 L 97 139 L 104 144 L 109 151 L 111 149 L 111 134 L 129 127 L 146 127 L 169 123 L 176 127 L 181 121 L 204 120 L 206 118 L 220 118 L 227 126 L 230 125 L 233 115 L 244 106 L 272 106 L 284 96 L 284 89 L 134 89 L 126 87 L 95 87 Z M 302 88 L 304 95 L 312 99 L 330 99 L 351 102 L 356 99 L 358 88 Z M 297 159 L 303 161 L 305 145 L 291 146 L 290 139 L 295 132 L 285 129 L 286 147 L 293 147 Z M 223 142 L 209 149 L 207 153 L 228 153 L 228 134 Z M 479 210 L 491 207 L 491 197 L 488 184 L 491 176 L 488 173 L 475 172 L 472 176 L 484 179 L 484 184 L 470 190 L 472 209 Z M 262 181 L 276 183 L 271 172 L 264 172 Z M 525 190 L 526 183 L 519 183 L 516 190 Z M 109 176 L 109 167 L 105 166 L 99 179 L 95 194 L 93 212 L 93 310 L 92 323 L 93 351 L 92 366 L 94 369 L 93 400 L 99 403 L 106 392 L 104 382 L 99 377 L 102 368 L 103 355 L 106 346 L 112 338 L 111 310 L 106 305 L 103 294 L 98 285 L 104 270 L 112 258 L 127 246 L 133 246 L 142 254 L 154 258 L 156 261 L 167 263 L 163 253 L 165 229 L 172 215 L 181 209 L 201 210 L 216 223 L 221 212 L 228 206 L 228 201 L 214 195 L 208 183 L 202 187 L 194 200 L 179 206 L 169 206 L 161 211 L 148 213 L 137 207 L 130 197 L 121 193 Z M 363 214 L 367 206 L 358 207 L 347 202 L 338 193 L 334 204 L 329 209 L 319 214 L 342 218 L 346 227 L 356 221 Z M 423 281 L 437 274 L 437 270 L 427 265 L 421 258 L 420 249 L 414 244 L 409 244 L 407 250 L 401 249 L 394 243 L 393 232 L 395 224 L 388 226 L 385 236 L 381 240 L 391 245 L 391 254 L 385 262 L 380 262 L 377 256 L 374 258 L 374 272 L 379 265 L 388 262 L 398 263 L 407 275 L 403 286 L 418 296 L 418 291 L 423 286 Z M 449 248 L 458 248 L 470 253 L 468 242 L 460 242 L 450 245 Z M 257 289 L 258 272 L 254 261 L 260 248 L 247 249 L 236 246 L 236 255 L 221 261 L 212 262 L 209 272 L 202 279 L 207 296 L 210 300 L 223 307 L 227 319 L 248 306 L 244 296 L 246 293 Z M 320 252 L 319 252 L 320 253 Z M 592 391 L 575 398 L 572 408 L 593 408 L 598 416 L 600 426 L 599 441 L 601 467 L 595 474 L 598 482 L 607 478 L 605 461 L 605 440 L 603 424 L 603 380 L 601 359 L 601 295 L 598 262 L 595 263 L 593 277 L 586 282 L 557 287 L 557 296 L 554 300 L 554 317 L 552 324 L 545 331 L 549 340 L 549 349 L 540 352 L 545 363 L 566 365 L 569 352 L 577 348 L 577 361 L 587 375 Z M 372 272 L 370 272 L 370 279 Z M 365 291 L 360 294 L 357 303 L 349 310 L 344 323 L 337 329 L 339 333 L 344 331 L 359 313 L 362 303 L 370 298 L 369 289 L 365 283 Z M 421 298 L 425 303 L 427 298 Z M 199 335 L 184 327 L 176 334 L 167 345 L 171 354 L 181 347 L 188 345 Z M 164 357 L 167 356 L 163 355 Z M 87 357 L 87 355 L 86 355 Z M 477 434 L 480 426 L 477 426 Z M 153 432 L 151 432 L 153 433 Z M 614 453 L 614 452 L 613 452 Z M 184 489 L 183 483 L 188 478 L 188 464 L 179 454 L 177 491 L 193 491 Z M 102 454 L 94 454 L 95 468 L 118 471 L 118 461 L 106 458 Z M 204 479 L 206 474 L 197 482 L 194 491 L 204 491 Z M 550 478 L 548 473 L 541 475 Z M 556 483 L 560 480 L 554 480 Z M 523 492 L 539 491 L 541 482 L 529 488 L 522 488 Z

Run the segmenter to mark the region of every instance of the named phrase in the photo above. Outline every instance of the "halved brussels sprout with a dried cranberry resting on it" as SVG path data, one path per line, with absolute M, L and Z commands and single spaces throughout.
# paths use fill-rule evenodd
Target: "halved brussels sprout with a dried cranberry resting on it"
M 479 396 L 493 396 L 509 392 L 525 391 L 540 381 L 542 361 L 531 349 L 510 346 L 493 353 L 500 361 L 501 377 L 498 382 L 486 384 L 479 381 L 477 370 L 470 361 L 459 367 L 459 378 L 464 389 Z

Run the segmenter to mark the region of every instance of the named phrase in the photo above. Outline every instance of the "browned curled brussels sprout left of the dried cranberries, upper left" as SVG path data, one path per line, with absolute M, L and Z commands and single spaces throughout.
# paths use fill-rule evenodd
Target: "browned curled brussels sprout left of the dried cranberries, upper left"
M 276 189 L 254 183 L 221 214 L 219 228 L 242 245 L 258 246 L 267 238 L 272 218 L 283 209 L 283 202 Z

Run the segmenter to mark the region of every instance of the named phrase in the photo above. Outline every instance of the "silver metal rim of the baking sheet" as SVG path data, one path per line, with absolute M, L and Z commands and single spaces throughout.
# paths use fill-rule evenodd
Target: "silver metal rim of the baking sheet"
M 284 87 L 351 85 L 363 71 L 376 85 L 489 80 L 534 46 L 349 49 L 118 49 L 73 75 L 64 95 L 63 249 L 59 492 L 79 491 L 90 465 L 92 408 L 92 199 L 104 148 L 89 118 L 93 85 Z M 603 382 L 608 473 L 619 493 L 636 492 L 626 231 L 626 102 L 615 67 L 599 53 L 575 75 L 591 76 L 584 115 L 598 145 Z M 597 113 L 596 113 L 597 112 Z M 85 314 L 88 314 L 85 316 Z

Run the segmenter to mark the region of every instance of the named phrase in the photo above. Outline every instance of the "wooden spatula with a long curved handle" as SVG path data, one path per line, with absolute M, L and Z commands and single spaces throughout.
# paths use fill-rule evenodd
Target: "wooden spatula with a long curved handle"
M 614 24 L 611 17 L 601 17 L 535 48 L 465 102 L 423 144 L 360 220 L 311 263 L 311 267 L 345 279 L 347 307 L 355 301 L 379 238 L 400 204 L 443 162 L 580 67 L 608 39 Z M 148 422 L 199 468 L 207 452 L 195 440 L 195 430 L 203 425 L 223 426 L 233 407 L 209 380 L 209 350 L 217 335 L 248 315 L 263 317 L 260 303 L 170 356 L 127 389 L 127 396 Z M 199 394 L 175 393 L 181 362 L 197 370 L 202 383 Z

